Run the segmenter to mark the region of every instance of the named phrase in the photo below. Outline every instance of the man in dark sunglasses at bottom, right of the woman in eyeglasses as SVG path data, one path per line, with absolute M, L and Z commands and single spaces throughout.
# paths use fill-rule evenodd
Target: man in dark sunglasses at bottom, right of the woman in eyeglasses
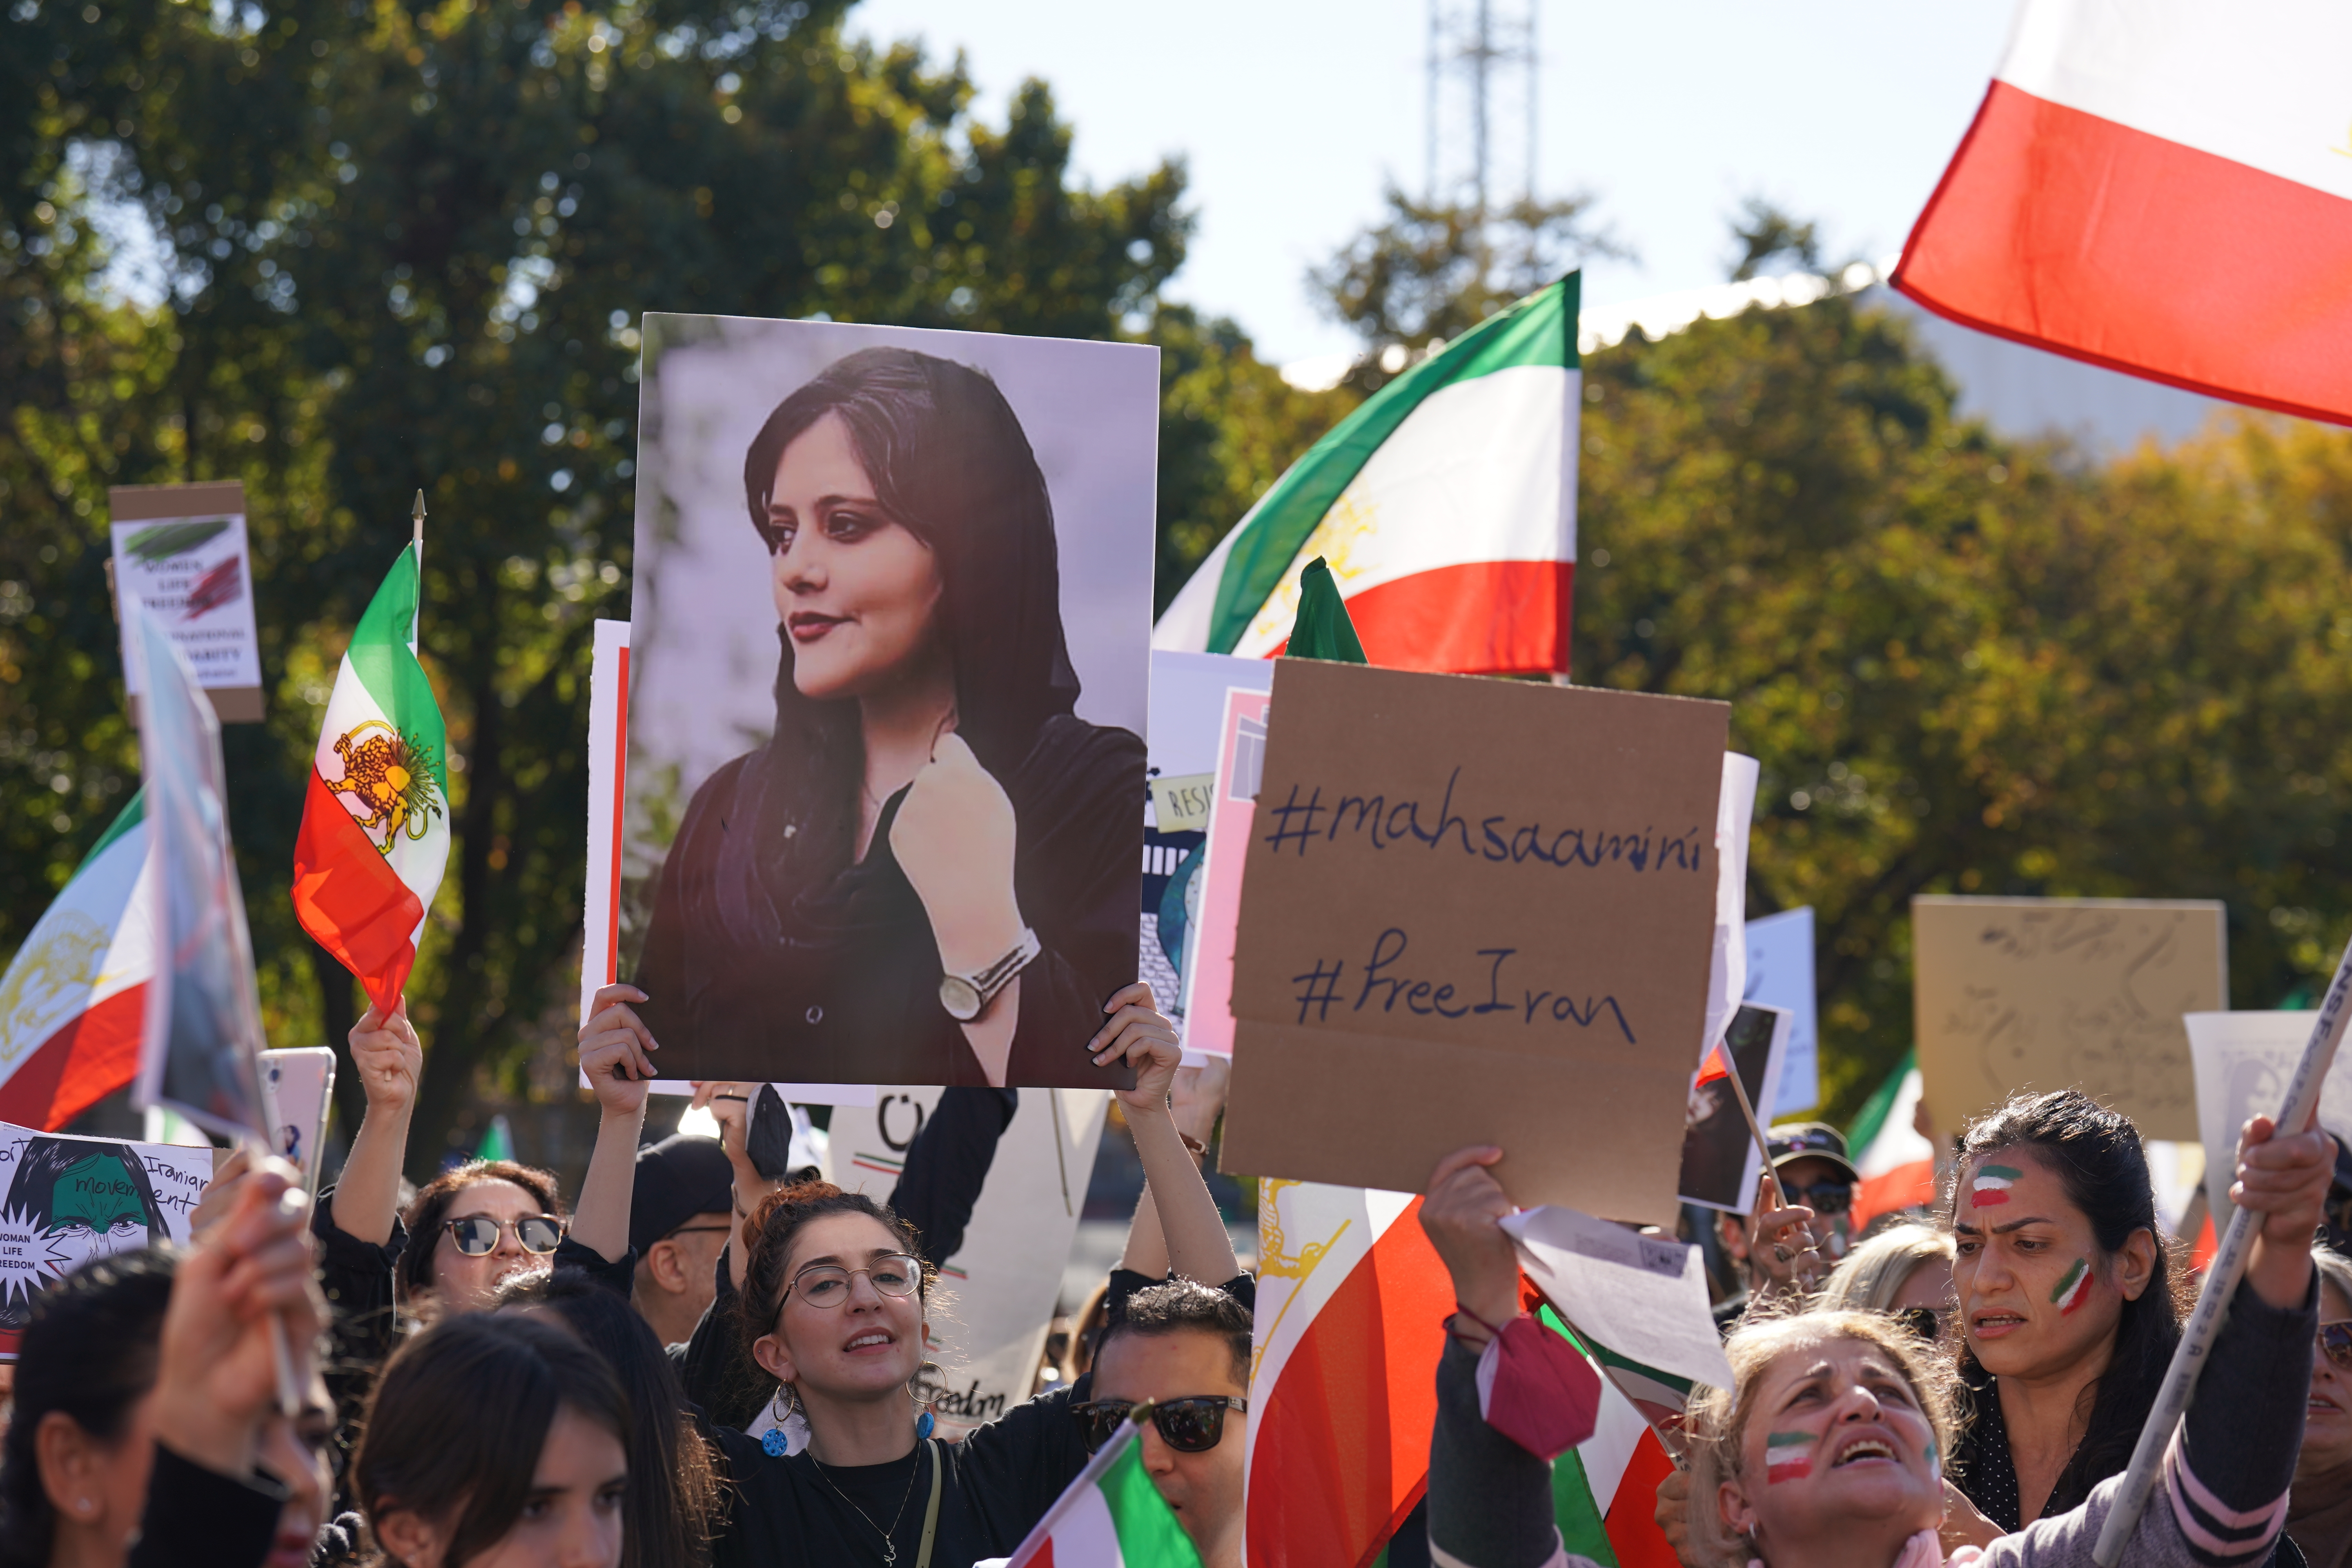
M 1249 1446 L 1249 1307 L 1190 1279 L 1145 1286 L 1103 1331 L 1094 1387 L 1070 1415 L 1096 1450 L 1152 1401 L 1143 1469 L 1200 1549 L 1242 1568 L 1242 1450 Z

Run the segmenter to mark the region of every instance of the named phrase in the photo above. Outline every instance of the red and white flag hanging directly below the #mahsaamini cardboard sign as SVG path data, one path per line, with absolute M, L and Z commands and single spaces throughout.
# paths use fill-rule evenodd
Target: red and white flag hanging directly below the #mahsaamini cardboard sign
M 1421 1199 L 1258 1182 L 1251 1568 L 1374 1561 L 1430 1486 L 1454 1286 Z

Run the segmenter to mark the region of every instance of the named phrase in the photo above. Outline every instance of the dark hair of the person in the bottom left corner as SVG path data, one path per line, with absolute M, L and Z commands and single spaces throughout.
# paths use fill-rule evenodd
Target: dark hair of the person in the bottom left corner
M 0 1568 L 47 1568 L 56 1509 L 40 1483 L 40 1422 L 56 1410 L 118 1443 L 155 1387 L 162 1314 L 179 1255 L 115 1253 L 82 1265 L 33 1302 L 16 1345 L 16 1403 L 0 1448 Z

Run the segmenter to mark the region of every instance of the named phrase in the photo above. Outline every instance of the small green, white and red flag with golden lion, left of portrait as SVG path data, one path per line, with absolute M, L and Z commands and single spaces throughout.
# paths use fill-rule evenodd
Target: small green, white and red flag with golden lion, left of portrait
M 350 635 L 294 842 L 294 914 L 386 1011 L 449 863 L 449 736 L 416 663 L 421 552 L 400 552 Z

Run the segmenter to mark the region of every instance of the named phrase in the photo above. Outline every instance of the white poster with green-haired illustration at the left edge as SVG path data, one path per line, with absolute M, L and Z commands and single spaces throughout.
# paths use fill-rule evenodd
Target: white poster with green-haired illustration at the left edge
M 0 1361 L 33 1300 L 92 1258 L 186 1241 L 212 1147 L 35 1133 L 0 1121 Z

